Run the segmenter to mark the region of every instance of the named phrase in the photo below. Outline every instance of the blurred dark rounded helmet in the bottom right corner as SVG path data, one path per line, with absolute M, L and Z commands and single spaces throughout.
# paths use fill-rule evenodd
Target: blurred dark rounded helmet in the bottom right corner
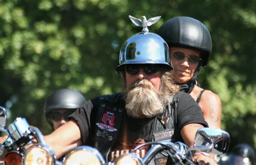
M 236 156 L 248 158 L 247 161 L 249 161 L 248 164 L 250 164 L 250 165 L 256 164 L 256 162 L 255 162 L 256 153 L 255 153 L 255 150 L 250 145 L 247 145 L 247 144 L 236 145 L 230 152 L 230 158 L 229 158 L 230 164 L 234 163 Z

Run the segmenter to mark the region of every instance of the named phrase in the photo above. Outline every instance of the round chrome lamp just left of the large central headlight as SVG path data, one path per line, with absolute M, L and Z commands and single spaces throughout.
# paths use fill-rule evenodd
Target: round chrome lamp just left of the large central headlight
M 32 145 L 22 157 L 24 165 L 54 165 L 55 161 L 56 156 L 52 149 L 42 144 Z

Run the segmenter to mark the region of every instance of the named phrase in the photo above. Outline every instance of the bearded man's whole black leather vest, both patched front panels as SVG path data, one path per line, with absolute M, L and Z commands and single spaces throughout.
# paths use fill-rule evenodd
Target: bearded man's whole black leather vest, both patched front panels
M 181 92 L 175 95 L 172 104 L 167 106 L 163 115 L 155 117 L 153 122 L 152 142 L 176 141 L 176 107 L 180 95 Z M 125 102 L 122 99 L 121 93 L 99 96 L 96 129 L 92 137 L 91 145 L 102 153 L 106 161 L 108 161 L 108 153 L 111 151 L 116 137 L 118 136 L 124 107 Z

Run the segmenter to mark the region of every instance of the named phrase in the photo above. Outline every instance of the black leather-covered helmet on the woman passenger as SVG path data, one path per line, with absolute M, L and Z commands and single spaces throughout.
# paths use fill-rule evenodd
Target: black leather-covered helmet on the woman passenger
M 192 17 L 173 17 L 158 29 L 160 35 L 172 47 L 195 49 L 201 52 L 201 62 L 194 73 L 200 73 L 201 66 L 208 64 L 212 52 L 212 39 L 208 29 Z

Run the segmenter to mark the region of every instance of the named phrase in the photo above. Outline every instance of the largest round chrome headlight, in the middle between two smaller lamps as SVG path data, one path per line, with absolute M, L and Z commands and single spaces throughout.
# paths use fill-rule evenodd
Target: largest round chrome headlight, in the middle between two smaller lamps
M 63 165 L 102 165 L 104 163 L 99 151 L 89 146 L 76 147 L 63 158 Z

